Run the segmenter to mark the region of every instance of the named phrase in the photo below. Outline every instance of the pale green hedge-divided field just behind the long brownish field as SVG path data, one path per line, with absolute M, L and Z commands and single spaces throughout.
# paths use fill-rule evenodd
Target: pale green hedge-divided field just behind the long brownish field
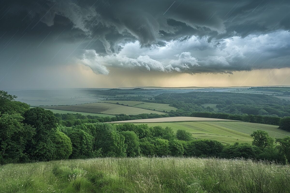
M 169 106 L 169 104 L 160 104 L 160 103 L 151 103 L 151 102 L 140 102 L 140 101 L 116 101 L 116 100 L 106 100 L 102 102 L 108 102 L 108 103 L 114 103 L 116 104 L 117 102 L 119 104 L 124 104 L 128 106 L 134 106 L 142 109 L 150 109 L 150 110 L 156 110 L 156 111 L 176 111 L 177 108 L 173 106 Z

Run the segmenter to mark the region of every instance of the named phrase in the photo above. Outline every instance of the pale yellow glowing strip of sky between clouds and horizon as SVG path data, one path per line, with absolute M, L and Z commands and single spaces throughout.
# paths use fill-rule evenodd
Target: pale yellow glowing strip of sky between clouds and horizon
M 84 65 L 63 67 L 69 87 L 231 87 L 290 85 L 290 68 L 236 71 L 233 74 L 165 73 L 136 69 L 110 68 L 109 75 L 95 74 Z M 67 82 L 67 84 L 68 84 Z

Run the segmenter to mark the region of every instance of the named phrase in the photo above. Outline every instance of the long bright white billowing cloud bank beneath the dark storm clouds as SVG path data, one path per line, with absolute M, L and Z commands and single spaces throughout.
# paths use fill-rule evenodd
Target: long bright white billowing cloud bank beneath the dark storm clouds
M 289 42 L 290 34 L 286 31 L 245 38 L 234 36 L 219 43 L 192 36 L 184 41 L 169 41 L 163 47 L 142 47 L 135 41 L 120 45 L 123 49 L 118 54 L 101 56 L 95 50 L 86 50 L 81 62 L 101 74 L 109 73 L 107 67 L 161 72 L 230 72 L 246 69 L 243 65 L 247 69 L 255 68 L 256 64 L 259 68 L 271 68 L 267 60 L 273 56 L 273 51 L 289 49 Z

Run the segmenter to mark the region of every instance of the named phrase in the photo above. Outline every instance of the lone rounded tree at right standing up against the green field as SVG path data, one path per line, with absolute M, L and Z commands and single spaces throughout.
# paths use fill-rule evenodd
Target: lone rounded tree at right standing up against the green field
M 274 139 L 269 137 L 269 134 L 263 130 L 254 131 L 251 134 L 251 137 L 253 137 L 252 144 L 254 146 L 258 146 L 262 150 L 266 147 L 271 147 L 274 144 Z

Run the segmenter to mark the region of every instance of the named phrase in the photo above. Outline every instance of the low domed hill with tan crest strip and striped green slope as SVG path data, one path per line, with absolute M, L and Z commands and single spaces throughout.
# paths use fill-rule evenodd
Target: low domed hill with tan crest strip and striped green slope
M 171 121 L 171 122 L 170 122 Z M 148 124 L 148 126 L 171 127 L 173 131 L 183 129 L 198 139 L 212 139 L 222 143 L 251 143 L 250 136 L 253 131 L 258 129 L 265 130 L 273 138 L 284 138 L 290 135 L 290 132 L 278 129 L 278 126 L 247 123 L 239 121 L 228 121 L 222 119 L 211 119 L 202 117 L 165 117 L 157 119 L 130 120 L 113 123 L 134 123 Z

